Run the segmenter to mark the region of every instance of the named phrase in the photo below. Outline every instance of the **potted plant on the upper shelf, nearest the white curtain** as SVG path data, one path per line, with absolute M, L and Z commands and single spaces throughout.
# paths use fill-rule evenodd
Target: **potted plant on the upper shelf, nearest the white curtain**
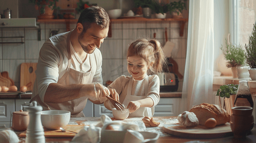
M 171 12 L 172 18 L 183 18 L 181 12 L 182 10 L 187 10 L 185 1 L 187 0 L 170 2 L 170 10 L 171 10 L 170 12 Z

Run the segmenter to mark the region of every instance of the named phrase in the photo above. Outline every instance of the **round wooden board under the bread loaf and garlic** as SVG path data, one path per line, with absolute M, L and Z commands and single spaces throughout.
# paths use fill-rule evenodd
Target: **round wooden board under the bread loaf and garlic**
M 230 128 L 230 123 L 215 126 L 212 129 L 206 128 L 205 126 L 201 125 L 198 125 L 194 128 L 186 128 L 185 126 L 179 123 L 164 124 L 163 130 L 165 133 L 185 138 L 210 139 L 233 135 L 232 130 Z

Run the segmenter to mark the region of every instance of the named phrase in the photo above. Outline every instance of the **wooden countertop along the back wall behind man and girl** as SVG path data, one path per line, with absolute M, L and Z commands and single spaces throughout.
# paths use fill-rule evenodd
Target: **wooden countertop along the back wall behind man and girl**
M 182 92 L 160 92 L 160 97 L 180 97 L 181 98 Z M 30 99 L 32 96 L 32 92 L 27 93 L 3 93 L 0 92 L 0 99 Z

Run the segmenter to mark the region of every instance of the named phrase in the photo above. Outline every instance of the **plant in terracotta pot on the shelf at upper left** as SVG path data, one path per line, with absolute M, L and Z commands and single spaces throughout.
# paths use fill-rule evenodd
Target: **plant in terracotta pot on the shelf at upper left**
M 38 19 L 53 19 L 53 12 L 55 9 L 59 9 L 56 6 L 58 0 L 29 0 L 29 2 L 35 4 L 35 9 L 39 10 Z

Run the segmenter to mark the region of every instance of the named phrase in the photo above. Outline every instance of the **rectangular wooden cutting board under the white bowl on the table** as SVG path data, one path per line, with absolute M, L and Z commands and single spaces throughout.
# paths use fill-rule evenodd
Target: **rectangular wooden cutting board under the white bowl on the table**
M 79 132 L 81 129 L 84 128 L 86 125 L 67 125 L 64 127 L 64 129 L 67 132 L 61 132 L 60 130 L 49 130 L 44 128 L 45 130 L 45 137 L 46 138 L 73 138 L 76 133 L 68 132 L 68 131 L 73 131 L 73 132 Z M 19 137 L 25 138 L 26 137 L 26 131 L 22 132 L 19 134 Z

